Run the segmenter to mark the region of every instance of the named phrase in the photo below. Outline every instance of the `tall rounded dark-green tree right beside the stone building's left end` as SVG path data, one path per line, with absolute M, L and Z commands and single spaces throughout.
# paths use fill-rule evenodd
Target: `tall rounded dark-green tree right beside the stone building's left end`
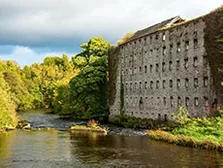
M 78 57 L 86 58 L 80 72 L 70 81 L 74 117 L 101 119 L 107 115 L 107 68 L 110 44 L 100 37 L 81 45 Z M 82 65 L 84 65 L 82 64 Z

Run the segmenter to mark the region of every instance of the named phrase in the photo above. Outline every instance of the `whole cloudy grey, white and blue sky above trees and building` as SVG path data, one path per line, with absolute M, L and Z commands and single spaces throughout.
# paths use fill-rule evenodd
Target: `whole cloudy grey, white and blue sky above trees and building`
M 21 66 L 74 56 L 95 36 L 116 44 L 128 32 L 180 15 L 191 19 L 222 0 L 0 0 L 0 59 Z

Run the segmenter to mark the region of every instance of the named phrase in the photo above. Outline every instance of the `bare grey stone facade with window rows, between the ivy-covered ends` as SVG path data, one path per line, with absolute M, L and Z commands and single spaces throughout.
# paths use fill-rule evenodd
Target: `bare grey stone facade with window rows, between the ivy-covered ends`
M 212 115 L 216 96 L 204 48 L 204 28 L 200 18 L 119 46 L 110 117 L 121 112 L 120 82 L 124 85 L 122 110 L 129 116 L 169 119 L 179 105 L 186 107 L 191 117 Z

